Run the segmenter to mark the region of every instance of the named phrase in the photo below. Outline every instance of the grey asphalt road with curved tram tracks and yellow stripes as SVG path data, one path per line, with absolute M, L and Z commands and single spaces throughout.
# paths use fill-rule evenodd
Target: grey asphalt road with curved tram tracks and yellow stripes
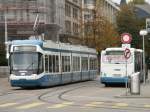
M 49 88 L 10 87 L 0 79 L 0 112 L 149 112 L 149 98 L 117 97 L 124 86 L 105 87 L 99 80 Z

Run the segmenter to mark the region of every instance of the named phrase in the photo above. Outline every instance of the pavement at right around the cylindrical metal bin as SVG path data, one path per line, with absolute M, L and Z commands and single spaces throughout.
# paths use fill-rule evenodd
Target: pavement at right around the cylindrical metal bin
M 120 94 L 118 96 L 115 96 L 117 98 L 150 98 L 150 70 L 148 72 L 148 79 L 146 80 L 146 83 L 142 83 L 140 86 L 140 95 L 133 95 L 128 92 L 127 94 L 124 92 L 123 94 Z

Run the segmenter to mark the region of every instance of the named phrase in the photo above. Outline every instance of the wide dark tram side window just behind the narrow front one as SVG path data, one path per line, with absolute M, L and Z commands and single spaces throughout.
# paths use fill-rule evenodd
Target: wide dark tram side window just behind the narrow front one
M 59 72 L 59 58 L 57 55 L 49 56 L 49 72 Z

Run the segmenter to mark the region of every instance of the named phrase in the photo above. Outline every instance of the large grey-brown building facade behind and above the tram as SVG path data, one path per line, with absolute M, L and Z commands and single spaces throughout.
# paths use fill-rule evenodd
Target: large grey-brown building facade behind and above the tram
M 55 41 L 79 36 L 81 7 L 82 0 L 0 0 L 0 42 L 4 42 L 5 16 L 9 40 L 26 39 L 35 33 Z

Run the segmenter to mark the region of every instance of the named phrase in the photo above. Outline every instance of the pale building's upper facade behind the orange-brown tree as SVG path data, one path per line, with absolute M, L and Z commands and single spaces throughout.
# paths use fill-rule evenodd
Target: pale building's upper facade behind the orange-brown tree
M 97 6 L 96 2 L 100 2 L 100 5 Z M 106 17 L 111 23 L 116 23 L 116 13 L 120 8 L 111 0 L 84 0 L 83 4 L 85 22 L 93 19 L 95 10 L 100 9 L 102 16 Z

